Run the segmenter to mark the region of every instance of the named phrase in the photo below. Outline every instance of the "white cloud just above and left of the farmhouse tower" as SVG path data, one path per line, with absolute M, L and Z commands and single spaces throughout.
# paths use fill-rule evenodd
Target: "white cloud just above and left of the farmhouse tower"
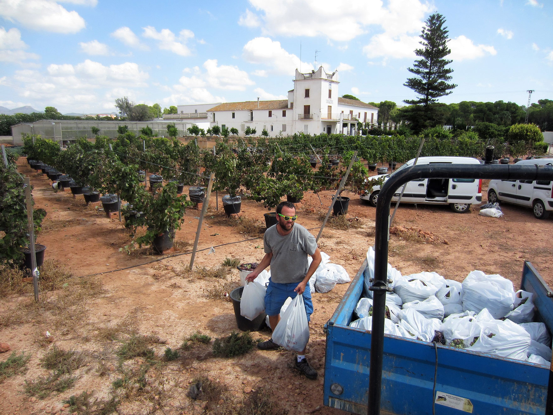
M 293 75 L 300 67 L 304 72 L 314 69 L 309 63 L 300 63 L 298 56 L 288 53 L 280 42 L 269 38 L 250 40 L 242 49 L 242 57 L 249 63 L 267 66 L 273 74 Z

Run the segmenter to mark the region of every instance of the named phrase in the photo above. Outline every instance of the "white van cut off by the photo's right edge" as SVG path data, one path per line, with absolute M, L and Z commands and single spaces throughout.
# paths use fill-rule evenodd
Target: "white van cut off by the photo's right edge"
M 553 166 L 553 158 L 520 160 L 517 164 L 535 164 Z M 515 205 L 528 206 L 538 219 L 547 219 L 553 210 L 551 198 L 552 185 L 548 180 L 490 180 L 488 184 L 488 201 L 509 202 Z

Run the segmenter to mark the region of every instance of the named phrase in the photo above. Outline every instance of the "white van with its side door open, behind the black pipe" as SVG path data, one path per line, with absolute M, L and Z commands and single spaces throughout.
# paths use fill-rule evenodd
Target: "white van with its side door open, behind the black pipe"
M 378 180 L 384 178 L 388 180 L 393 174 L 397 174 L 401 170 L 410 167 L 415 162 L 415 159 L 409 160 L 392 174 L 380 174 L 367 178 Z M 472 157 L 419 157 L 416 164 L 480 164 L 479 160 Z M 397 201 L 403 186 L 397 190 L 392 200 Z M 432 205 L 450 205 L 451 209 L 457 213 L 467 212 L 471 204 L 479 204 L 482 202 L 482 180 L 479 179 L 416 179 L 411 180 L 405 186 L 401 203 L 425 203 Z M 380 186 L 374 185 L 369 191 L 361 192 L 361 199 L 367 200 L 369 205 L 376 206 Z

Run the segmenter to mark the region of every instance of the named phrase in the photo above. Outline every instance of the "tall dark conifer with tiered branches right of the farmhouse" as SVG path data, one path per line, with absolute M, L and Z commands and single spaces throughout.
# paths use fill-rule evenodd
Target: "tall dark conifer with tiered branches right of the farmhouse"
M 439 13 L 434 13 L 426 20 L 425 27 L 422 28 L 421 42 L 424 48 L 416 49 L 415 54 L 422 59 L 415 60 L 414 68 L 408 68 L 415 77 L 408 78 L 403 84 L 415 91 L 419 96 L 415 100 L 404 100 L 405 103 L 415 107 L 410 108 L 412 117 L 409 121 L 416 130 L 434 126 L 436 118 L 432 104 L 437 98 L 451 94 L 451 90 L 457 85 L 448 84 L 452 79 L 450 75 L 453 69 L 446 68 L 452 60 L 444 59 L 451 53 L 447 47 L 447 27 L 444 26 L 446 20 Z

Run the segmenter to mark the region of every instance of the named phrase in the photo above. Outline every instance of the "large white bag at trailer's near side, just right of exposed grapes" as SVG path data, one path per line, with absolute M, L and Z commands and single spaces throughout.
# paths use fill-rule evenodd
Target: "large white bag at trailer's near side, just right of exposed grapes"
M 478 339 L 469 350 L 482 351 L 510 359 L 528 360 L 526 350 L 530 346 L 530 335 L 511 320 L 479 321 Z

